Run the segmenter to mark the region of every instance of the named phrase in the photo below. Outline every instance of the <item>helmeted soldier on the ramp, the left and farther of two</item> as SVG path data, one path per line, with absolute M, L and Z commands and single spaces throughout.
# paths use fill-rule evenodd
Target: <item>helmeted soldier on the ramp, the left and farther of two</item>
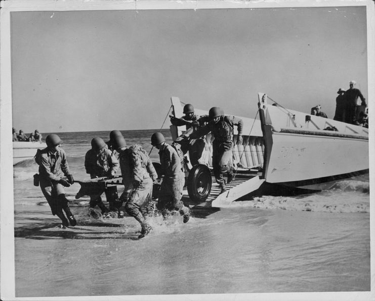
M 185 125 L 186 130 L 189 132 L 196 131 L 204 125 L 204 118 L 201 118 L 201 116 L 194 114 L 194 107 L 191 104 L 186 104 L 184 106 L 183 113 L 185 115 L 181 118 L 170 116 L 171 123 L 175 126 Z M 185 148 L 187 148 L 186 152 L 189 151 L 191 165 L 194 166 L 196 164 L 199 164 L 199 159 L 202 157 L 205 144 L 203 138 L 199 137 L 198 139 L 191 139 L 187 141 L 182 137 L 178 137 L 175 142 L 182 144 L 182 148 L 184 148 L 184 142 L 188 143 Z

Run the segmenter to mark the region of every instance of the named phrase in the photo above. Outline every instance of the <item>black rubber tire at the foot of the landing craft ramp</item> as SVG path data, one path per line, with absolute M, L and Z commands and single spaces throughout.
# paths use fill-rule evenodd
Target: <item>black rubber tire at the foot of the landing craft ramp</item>
M 212 187 L 212 177 L 210 169 L 197 164 L 190 170 L 187 180 L 187 190 L 190 199 L 195 203 L 204 202 L 210 195 Z

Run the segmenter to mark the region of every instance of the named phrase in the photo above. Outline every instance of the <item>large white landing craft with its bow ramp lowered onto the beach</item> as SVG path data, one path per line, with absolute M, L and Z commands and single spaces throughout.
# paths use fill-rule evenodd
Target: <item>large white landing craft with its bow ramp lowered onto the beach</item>
M 211 134 L 206 136 L 202 156 L 206 159 L 190 169 L 187 181 L 189 198 L 195 204 L 225 207 L 259 191 L 320 191 L 339 180 L 368 173 L 368 128 L 272 105 L 264 93 L 258 97 L 260 120 L 241 117 L 243 144 L 234 146 L 232 160 L 236 176 L 221 194 L 212 180 Z M 178 97 L 171 100 L 172 114 L 181 117 L 183 104 Z M 184 127 L 170 128 L 175 140 Z

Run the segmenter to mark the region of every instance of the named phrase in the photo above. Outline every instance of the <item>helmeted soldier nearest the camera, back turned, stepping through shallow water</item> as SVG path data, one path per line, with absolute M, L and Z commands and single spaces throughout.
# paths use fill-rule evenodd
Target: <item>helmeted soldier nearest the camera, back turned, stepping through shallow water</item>
M 119 153 L 124 184 L 120 200 L 126 202 L 126 212 L 141 224 L 141 234 L 138 237 L 142 238 L 151 231 L 151 226 L 145 220 L 145 214 L 152 198 L 152 185 L 157 179 L 157 173 L 142 146 L 135 144 L 127 147 L 122 136 L 114 138 L 113 146 Z

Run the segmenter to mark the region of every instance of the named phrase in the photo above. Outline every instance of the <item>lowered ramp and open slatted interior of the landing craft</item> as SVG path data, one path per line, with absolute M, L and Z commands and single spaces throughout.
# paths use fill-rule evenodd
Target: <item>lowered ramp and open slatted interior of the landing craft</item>
M 181 118 L 185 104 L 180 102 L 178 97 L 171 97 L 171 102 L 173 116 Z M 208 112 L 203 110 L 195 109 L 194 113 L 200 116 L 208 115 Z M 192 170 L 190 170 L 187 183 L 188 191 L 190 190 L 190 199 L 184 199 L 187 205 L 195 208 L 228 207 L 234 200 L 257 190 L 264 182 L 262 172 L 260 172 L 264 161 L 264 142 L 260 121 L 243 117 L 241 117 L 241 119 L 243 120 L 243 143 L 234 146 L 231 164 L 235 167 L 236 174 L 233 181 L 226 185 L 227 191 L 220 193 L 221 188 L 219 188 L 219 185 L 213 177 L 212 137 L 211 134 L 207 134 L 205 137 L 205 150 L 199 162 L 201 165 L 207 166 L 210 169 L 206 167 L 205 169 L 207 171 L 204 171 L 204 168 L 202 168 L 201 172 L 198 172 L 194 179 L 191 177 L 190 173 Z M 179 137 L 183 133 L 183 130 L 185 130 L 184 126 L 177 127 L 171 125 L 170 128 L 173 140 Z M 246 133 L 248 133 L 247 136 Z M 234 139 L 236 139 L 236 136 Z M 192 168 L 191 166 L 189 167 Z M 207 175 L 207 173 L 210 173 L 209 170 L 211 170 L 211 176 Z M 201 176 L 203 173 L 205 173 L 205 175 Z M 208 181 L 207 177 L 210 178 L 209 181 L 211 181 L 211 183 L 202 183 Z M 195 181 L 195 183 L 193 183 L 195 188 L 193 193 L 191 192 L 191 181 Z

